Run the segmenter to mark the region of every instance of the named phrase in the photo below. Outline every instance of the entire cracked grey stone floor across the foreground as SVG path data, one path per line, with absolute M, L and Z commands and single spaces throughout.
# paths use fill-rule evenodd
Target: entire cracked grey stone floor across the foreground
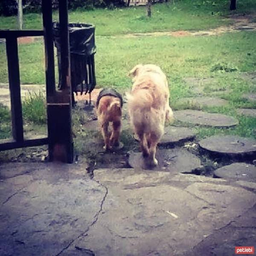
M 234 255 L 256 183 L 86 165 L 0 165 L 0 255 Z

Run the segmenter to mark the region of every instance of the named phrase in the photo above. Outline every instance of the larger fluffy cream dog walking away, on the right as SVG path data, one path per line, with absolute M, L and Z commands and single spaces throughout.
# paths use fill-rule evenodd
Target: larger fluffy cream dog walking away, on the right
M 157 143 L 163 136 L 166 119 L 173 118 L 169 107 L 169 87 L 160 67 L 137 65 L 131 71 L 134 84 L 127 94 L 131 124 L 140 139 L 140 146 L 148 166 L 157 166 Z

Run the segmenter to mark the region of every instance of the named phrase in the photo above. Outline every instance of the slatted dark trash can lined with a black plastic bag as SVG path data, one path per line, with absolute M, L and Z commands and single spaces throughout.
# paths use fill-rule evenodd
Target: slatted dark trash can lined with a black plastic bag
M 71 87 L 76 94 L 80 92 L 91 93 L 96 85 L 94 54 L 95 46 L 95 26 L 83 23 L 69 23 L 70 41 L 70 70 Z M 60 36 L 59 23 L 53 23 L 53 38 L 57 48 L 59 82 L 58 88 L 61 89 L 61 58 L 60 58 Z M 72 104 L 74 99 L 72 97 Z

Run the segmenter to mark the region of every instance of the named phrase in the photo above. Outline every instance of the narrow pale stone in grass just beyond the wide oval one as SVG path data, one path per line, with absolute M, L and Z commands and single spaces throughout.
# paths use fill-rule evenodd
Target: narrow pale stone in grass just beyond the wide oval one
M 216 97 L 196 97 L 196 98 L 183 98 L 178 101 L 178 104 L 189 104 L 197 107 L 221 107 L 227 105 L 228 101 Z

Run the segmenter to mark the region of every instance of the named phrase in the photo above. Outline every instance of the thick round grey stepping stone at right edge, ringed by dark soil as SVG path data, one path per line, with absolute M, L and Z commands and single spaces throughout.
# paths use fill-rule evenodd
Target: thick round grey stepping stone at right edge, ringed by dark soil
M 248 154 L 256 153 L 256 140 L 237 136 L 215 135 L 199 142 L 201 148 L 222 154 Z

